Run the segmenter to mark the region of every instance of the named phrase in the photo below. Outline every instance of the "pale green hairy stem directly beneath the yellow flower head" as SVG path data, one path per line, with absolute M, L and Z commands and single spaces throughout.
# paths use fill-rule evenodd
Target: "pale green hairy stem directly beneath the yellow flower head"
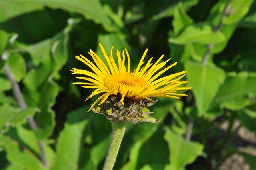
M 114 167 L 114 164 L 116 162 L 116 157 L 124 136 L 125 132 L 125 122 L 114 120 L 112 122 L 113 126 L 113 134 L 112 134 L 112 140 L 110 143 L 110 148 L 108 150 L 108 155 L 103 167 L 103 170 L 112 170 Z

